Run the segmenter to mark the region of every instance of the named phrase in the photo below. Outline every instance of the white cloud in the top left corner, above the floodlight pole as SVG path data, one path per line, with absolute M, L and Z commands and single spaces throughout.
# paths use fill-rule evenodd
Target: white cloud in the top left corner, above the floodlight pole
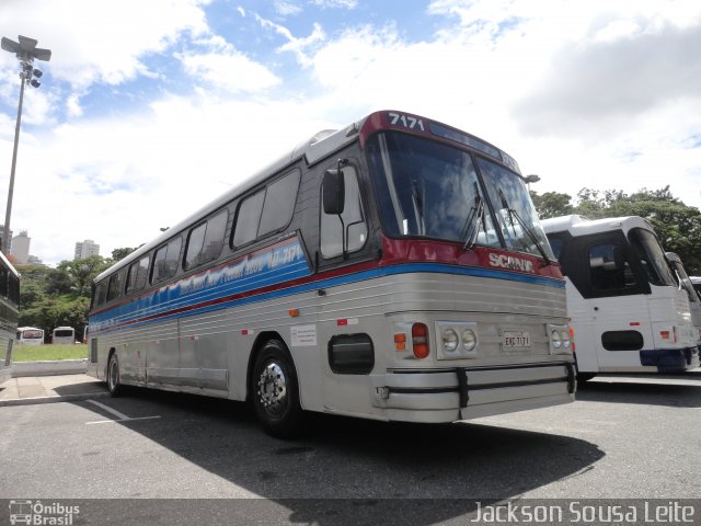
M 21 27 L 53 52 L 51 75 L 84 89 L 118 84 L 143 69 L 142 57 L 160 53 L 183 32 L 207 31 L 209 0 L 22 0 L 0 3 L 0 28 Z M 168 13 L 168 15 L 164 15 Z M 41 35 L 41 38 L 38 37 Z

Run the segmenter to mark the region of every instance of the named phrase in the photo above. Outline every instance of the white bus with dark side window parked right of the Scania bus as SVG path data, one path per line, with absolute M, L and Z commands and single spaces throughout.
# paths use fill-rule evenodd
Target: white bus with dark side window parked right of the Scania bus
M 563 216 L 541 222 L 567 281 L 582 379 L 699 365 L 689 298 L 646 220 Z

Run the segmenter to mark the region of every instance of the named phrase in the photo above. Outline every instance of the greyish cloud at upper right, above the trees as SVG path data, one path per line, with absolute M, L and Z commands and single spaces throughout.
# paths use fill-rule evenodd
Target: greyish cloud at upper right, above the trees
M 701 62 L 689 60 L 690 49 L 701 49 L 701 23 L 655 32 L 639 26 L 635 33 L 613 39 L 608 33 L 604 42 L 595 35 L 589 45 L 562 48 L 548 75 L 515 105 L 524 132 L 601 134 L 609 126 L 613 133 L 658 105 L 701 100 Z

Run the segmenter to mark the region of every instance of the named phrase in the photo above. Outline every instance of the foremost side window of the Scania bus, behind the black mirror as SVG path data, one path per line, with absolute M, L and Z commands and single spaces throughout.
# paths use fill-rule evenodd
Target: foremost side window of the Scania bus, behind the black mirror
M 363 214 L 358 178 L 353 167 L 343 168 L 345 182 L 345 205 L 341 218 L 334 214 L 325 214 L 321 210 L 321 254 L 324 258 L 335 258 L 343 253 L 343 229 L 346 229 L 346 250 L 355 252 L 365 245 L 368 238 L 368 226 Z M 323 188 L 320 196 L 323 195 Z M 320 197 L 321 198 L 321 197 Z M 343 221 L 341 220 L 343 219 Z

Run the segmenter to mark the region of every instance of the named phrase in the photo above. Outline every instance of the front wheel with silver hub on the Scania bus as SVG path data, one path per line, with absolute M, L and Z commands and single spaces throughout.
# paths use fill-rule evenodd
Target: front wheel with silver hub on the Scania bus
M 265 431 L 278 438 L 294 438 L 302 423 L 299 384 L 291 356 L 278 340 L 265 343 L 253 366 L 251 400 Z

